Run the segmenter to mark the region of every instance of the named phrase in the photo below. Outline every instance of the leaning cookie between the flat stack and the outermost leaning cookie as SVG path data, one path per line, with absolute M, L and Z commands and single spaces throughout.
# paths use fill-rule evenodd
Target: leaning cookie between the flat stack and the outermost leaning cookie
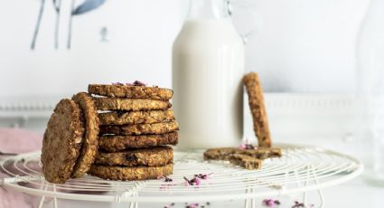
M 72 99 L 79 104 L 85 118 L 84 141 L 71 175 L 78 178 L 89 171 L 98 153 L 98 112 L 93 98 L 88 93 L 79 92 Z

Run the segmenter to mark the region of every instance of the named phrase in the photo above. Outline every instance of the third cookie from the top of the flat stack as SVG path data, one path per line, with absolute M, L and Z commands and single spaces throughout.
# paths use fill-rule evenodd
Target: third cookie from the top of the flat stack
M 153 124 L 174 120 L 173 110 L 112 111 L 98 114 L 100 125 Z

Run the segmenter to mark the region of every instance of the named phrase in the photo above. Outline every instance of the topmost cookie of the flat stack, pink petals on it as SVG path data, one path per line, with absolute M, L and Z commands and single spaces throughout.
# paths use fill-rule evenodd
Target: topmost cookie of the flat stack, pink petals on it
M 168 100 L 173 96 L 173 90 L 145 86 L 89 84 L 88 91 L 92 94 L 111 98 Z

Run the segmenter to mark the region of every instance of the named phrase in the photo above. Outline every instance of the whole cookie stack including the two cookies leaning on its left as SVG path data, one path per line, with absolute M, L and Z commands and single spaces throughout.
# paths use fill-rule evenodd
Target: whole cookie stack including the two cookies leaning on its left
M 92 96 L 91 94 L 95 95 Z M 42 141 L 48 182 L 90 174 L 110 180 L 155 179 L 173 173 L 178 125 L 173 91 L 134 84 L 89 85 L 61 99 Z

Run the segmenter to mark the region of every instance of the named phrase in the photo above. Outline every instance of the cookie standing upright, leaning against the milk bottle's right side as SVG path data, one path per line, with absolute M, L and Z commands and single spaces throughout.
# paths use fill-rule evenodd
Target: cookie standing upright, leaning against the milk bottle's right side
M 263 91 L 258 73 L 250 72 L 243 77 L 248 92 L 248 103 L 253 118 L 253 129 L 258 137 L 258 147 L 271 147 L 271 135 L 268 128 L 267 111 L 264 106 Z

